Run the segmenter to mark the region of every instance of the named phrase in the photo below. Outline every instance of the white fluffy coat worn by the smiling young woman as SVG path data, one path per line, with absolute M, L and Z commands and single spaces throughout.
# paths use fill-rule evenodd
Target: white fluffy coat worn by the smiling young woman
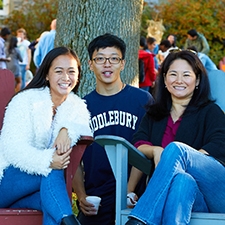
M 47 176 L 52 145 L 62 127 L 74 145 L 80 135 L 92 135 L 85 102 L 73 93 L 57 108 L 54 120 L 49 88 L 29 89 L 8 104 L 0 135 L 0 181 L 9 165 L 29 174 Z

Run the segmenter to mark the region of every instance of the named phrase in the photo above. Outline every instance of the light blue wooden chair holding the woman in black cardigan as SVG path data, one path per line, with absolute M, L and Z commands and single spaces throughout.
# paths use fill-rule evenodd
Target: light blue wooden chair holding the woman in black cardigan
M 209 74 L 211 96 L 225 112 L 225 72 L 211 71 Z M 124 225 L 131 209 L 127 208 L 127 164 L 147 175 L 153 171 L 153 163 L 124 138 L 100 135 L 95 141 L 105 148 L 116 178 L 116 225 Z M 225 225 L 225 214 L 192 213 L 190 225 Z

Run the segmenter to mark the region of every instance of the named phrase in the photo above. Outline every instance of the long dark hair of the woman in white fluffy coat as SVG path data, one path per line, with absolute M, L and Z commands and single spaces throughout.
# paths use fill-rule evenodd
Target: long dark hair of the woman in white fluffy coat
M 78 71 L 79 71 L 78 81 L 76 86 L 72 90 L 74 93 L 76 93 L 80 84 L 80 79 L 81 79 L 81 64 L 77 54 L 72 49 L 69 49 L 67 47 L 57 47 L 52 49 L 50 52 L 48 52 L 43 62 L 41 63 L 41 66 L 39 67 L 36 75 L 23 90 L 27 90 L 31 88 L 42 88 L 42 87 L 44 88 L 46 86 L 49 87 L 49 82 L 46 82 L 46 77 L 48 75 L 48 72 L 52 65 L 53 60 L 60 55 L 71 55 L 77 61 Z

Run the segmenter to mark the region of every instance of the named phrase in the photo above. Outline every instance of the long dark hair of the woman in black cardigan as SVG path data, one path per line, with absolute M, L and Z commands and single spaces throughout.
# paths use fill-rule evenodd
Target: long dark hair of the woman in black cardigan
M 201 107 L 210 102 L 210 86 L 209 80 L 207 76 L 206 69 L 204 68 L 203 64 L 199 60 L 198 56 L 188 50 L 180 50 L 178 52 L 170 53 L 166 59 L 162 63 L 162 67 L 160 69 L 157 87 L 156 87 L 156 101 L 153 105 L 147 106 L 147 112 L 151 115 L 155 120 L 163 119 L 164 117 L 168 116 L 170 113 L 170 109 L 172 106 L 172 99 L 171 94 L 165 88 L 165 76 L 170 68 L 170 65 L 176 59 L 183 59 L 189 63 L 192 67 L 196 79 L 199 79 L 199 85 L 194 90 L 192 98 L 188 104 L 185 113 Z

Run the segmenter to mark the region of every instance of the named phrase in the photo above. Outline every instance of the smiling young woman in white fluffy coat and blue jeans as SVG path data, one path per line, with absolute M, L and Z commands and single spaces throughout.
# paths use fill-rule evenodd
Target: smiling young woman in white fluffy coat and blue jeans
M 92 135 L 75 52 L 58 47 L 9 102 L 0 135 L 0 208 L 33 208 L 44 225 L 79 225 L 66 191 L 71 146 Z

